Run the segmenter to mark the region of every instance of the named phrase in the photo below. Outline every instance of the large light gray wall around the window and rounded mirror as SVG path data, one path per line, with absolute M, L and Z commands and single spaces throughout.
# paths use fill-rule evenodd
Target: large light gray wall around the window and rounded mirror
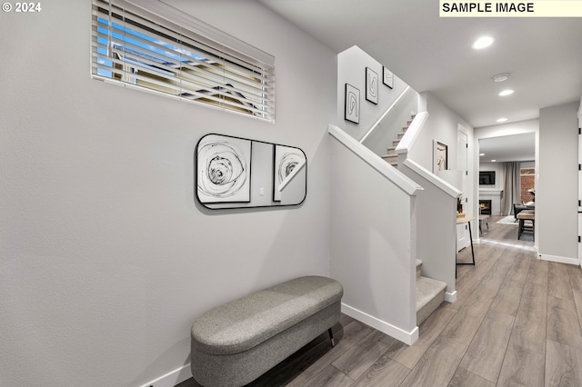
M 92 80 L 88 1 L 0 16 L 1 385 L 149 382 L 189 362 L 196 315 L 329 274 L 336 55 L 255 2 L 169 3 L 276 56 L 276 124 Z M 209 132 L 301 147 L 306 202 L 203 209 Z

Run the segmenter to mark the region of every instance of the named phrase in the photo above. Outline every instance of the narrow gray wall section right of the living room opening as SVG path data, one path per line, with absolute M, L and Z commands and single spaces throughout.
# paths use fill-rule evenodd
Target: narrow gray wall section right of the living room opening
M 566 263 L 577 263 L 577 109 L 572 103 L 539 111 L 538 253 Z

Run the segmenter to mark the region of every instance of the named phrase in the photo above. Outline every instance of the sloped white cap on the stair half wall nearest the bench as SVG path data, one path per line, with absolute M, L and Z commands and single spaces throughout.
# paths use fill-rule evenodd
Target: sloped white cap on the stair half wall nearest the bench
M 405 193 L 412 196 L 416 195 L 419 191 L 423 191 L 423 188 L 420 185 L 416 184 L 405 174 L 398 172 L 396 168 L 387 164 L 377 154 L 370 151 L 363 144 L 358 143 L 352 136 L 346 134 L 345 131 L 341 130 L 336 125 L 329 124 L 327 126 L 327 131 L 334 136 L 337 141 L 346 145 L 349 150 L 364 160 L 366 164 L 376 169 L 378 173 L 384 175 L 386 179 L 396 184 L 396 186 Z

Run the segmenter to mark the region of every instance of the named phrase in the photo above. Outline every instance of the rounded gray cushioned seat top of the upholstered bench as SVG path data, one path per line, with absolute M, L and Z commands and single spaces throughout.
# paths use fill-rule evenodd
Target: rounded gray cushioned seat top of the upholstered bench
M 344 290 L 331 278 L 306 276 L 218 306 L 192 325 L 192 345 L 206 353 L 243 352 L 338 303 Z

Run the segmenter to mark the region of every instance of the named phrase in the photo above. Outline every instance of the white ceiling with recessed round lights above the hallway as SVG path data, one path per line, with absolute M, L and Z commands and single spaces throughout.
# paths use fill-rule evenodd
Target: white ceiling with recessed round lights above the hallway
M 475 128 L 580 101 L 582 18 L 440 18 L 438 1 L 256 0 L 340 53 L 357 45 Z M 494 45 L 471 48 L 481 35 Z M 504 83 L 493 75 L 509 73 Z M 515 93 L 497 95 L 502 89 Z

